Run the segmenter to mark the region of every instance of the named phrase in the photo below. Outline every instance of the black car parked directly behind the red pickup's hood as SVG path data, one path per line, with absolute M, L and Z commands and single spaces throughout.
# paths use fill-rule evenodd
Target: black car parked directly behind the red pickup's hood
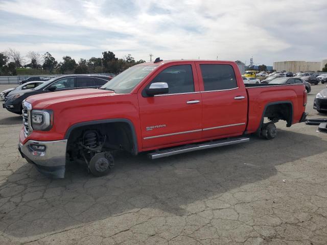
M 28 96 L 39 93 L 49 93 L 69 89 L 98 88 L 110 81 L 111 79 L 112 78 L 109 76 L 101 75 L 66 75 L 56 77 L 32 89 L 11 91 L 5 98 L 5 103 L 3 104 L 3 107 L 10 112 L 21 114 L 21 103 Z

